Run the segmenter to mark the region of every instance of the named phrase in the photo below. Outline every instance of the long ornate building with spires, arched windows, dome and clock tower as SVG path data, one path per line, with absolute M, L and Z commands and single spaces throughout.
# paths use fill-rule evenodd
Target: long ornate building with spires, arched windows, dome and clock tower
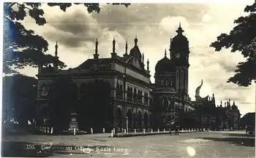
M 235 103 L 228 110 L 215 106 L 214 95 L 200 97 L 203 80 L 195 90 L 195 101 L 189 98 L 189 42 L 182 34 L 184 31 L 181 25 L 176 32 L 178 34 L 170 39 L 170 58 L 167 58 L 165 50 L 164 58 L 155 66 L 154 84 L 150 82 L 149 61 L 145 62 L 137 37 L 129 53 L 126 44 L 123 57 L 117 55 L 116 40 L 113 39 L 111 58 L 99 58 L 99 43 L 96 41 L 94 58 L 86 60 L 77 68 L 59 70 L 56 63 L 53 63 L 53 67 L 39 66 L 37 119 L 49 119 L 48 91 L 54 79 L 62 76 L 75 83 L 77 104 L 81 104 L 81 90 L 85 89 L 85 84 L 104 81 L 110 86 L 110 105 L 113 109 L 110 117 L 113 119 L 110 119 L 108 128 L 126 128 L 127 122 L 130 130 L 165 128 L 173 124 L 183 128 L 238 127 L 240 113 Z M 57 59 L 57 43 L 55 55 Z

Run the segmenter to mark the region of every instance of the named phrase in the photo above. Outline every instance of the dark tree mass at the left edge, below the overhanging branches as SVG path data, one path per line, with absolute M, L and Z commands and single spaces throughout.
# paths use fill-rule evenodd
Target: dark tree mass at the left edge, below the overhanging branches
M 34 119 L 37 79 L 14 75 L 3 78 L 3 120 L 15 118 L 19 125 Z M 10 121 L 10 120 L 7 120 Z

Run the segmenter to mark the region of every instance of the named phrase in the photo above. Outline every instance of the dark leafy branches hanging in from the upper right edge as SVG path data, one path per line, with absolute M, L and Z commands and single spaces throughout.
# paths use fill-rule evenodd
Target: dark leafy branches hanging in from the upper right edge
M 210 47 L 214 47 L 215 51 L 231 48 L 231 52 L 238 51 L 244 55 L 246 61 L 238 63 L 236 74 L 227 82 L 247 87 L 256 79 L 256 4 L 246 6 L 244 12 L 249 12 L 249 15 L 238 17 L 233 30 L 229 34 L 222 33 Z

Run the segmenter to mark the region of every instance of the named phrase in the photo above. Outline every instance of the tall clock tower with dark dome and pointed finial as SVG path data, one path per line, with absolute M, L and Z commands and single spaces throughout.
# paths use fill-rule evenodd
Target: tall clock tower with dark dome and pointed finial
M 179 24 L 178 34 L 170 42 L 170 58 L 176 65 L 176 91 L 186 99 L 189 91 L 189 42 Z

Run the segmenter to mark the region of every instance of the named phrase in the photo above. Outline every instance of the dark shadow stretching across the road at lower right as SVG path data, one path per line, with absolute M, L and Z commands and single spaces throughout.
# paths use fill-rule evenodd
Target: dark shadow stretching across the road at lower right
M 251 146 L 255 147 L 255 138 L 235 138 L 235 137 L 230 137 L 230 138 L 201 138 L 205 140 L 211 140 L 211 141 L 225 141 L 228 143 L 233 143 L 238 146 Z

